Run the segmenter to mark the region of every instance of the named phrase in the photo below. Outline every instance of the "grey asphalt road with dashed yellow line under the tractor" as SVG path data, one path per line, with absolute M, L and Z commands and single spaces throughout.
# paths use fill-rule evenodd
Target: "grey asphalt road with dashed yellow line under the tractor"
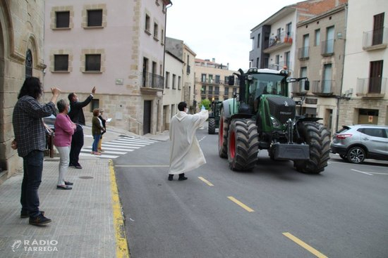
M 388 162 L 308 175 L 262 150 L 232 172 L 217 137 L 198 130 L 207 164 L 186 181 L 167 181 L 169 141 L 114 160 L 132 258 L 388 257 Z

